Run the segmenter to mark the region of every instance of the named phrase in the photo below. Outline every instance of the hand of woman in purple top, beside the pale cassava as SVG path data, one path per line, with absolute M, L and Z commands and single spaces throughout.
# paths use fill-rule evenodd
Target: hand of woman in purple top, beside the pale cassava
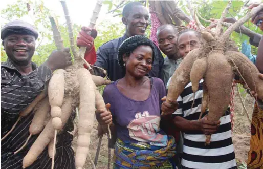
M 96 119 L 98 120 L 100 125 L 108 125 L 112 123 L 112 115 L 109 111 L 111 104 L 106 104 L 106 110 L 96 110 Z

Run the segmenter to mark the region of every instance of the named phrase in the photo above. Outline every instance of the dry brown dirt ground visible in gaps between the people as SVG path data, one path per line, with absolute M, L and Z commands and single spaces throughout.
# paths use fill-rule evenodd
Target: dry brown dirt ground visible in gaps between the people
M 246 93 L 241 93 L 245 107 L 247 109 L 247 112 L 249 114 L 249 118 L 251 119 L 252 116 L 252 109 L 253 109 L 253 98 L 250 97 L 250 95 L 246 95 Z M 237 92 L 235 94 L 235 101 L 234 101 L 234 128 L 233 128 L 233 144 L 235 147 L 235 156 L 237 159 L 237 164 L 242 165 L 241 163 L 244 162 L 246 164 L 247 160 L 247 154 L 249 151 L 249 145 L 250 145 L 250 122 L 248 121 L 248 118 L 245 114 L 245 111 L 243 109 L 243 106 L 238 98 Z M 91 134 L 91 144 L 90 144 L 90 155 L 92 160 L 95 158 L 95 154 L 97 151 L 97 145 L 99 142 L 99 139 L 97 137 L 97 121 L 95 121 L 94 128 Z M 76 147 L 76 138 L 73 140 L 73 149 Z M 113 155 L 113 150 L 111 150 L 111 159 Z M 111 160 L 112 161 L 112 160 Z M 101 149 L 100 154 L 98 158 L 97 163 L 97 169 L 104 169 L 108 166 L 108 148 L 107 148 L 107 136 L 103 136 L 102 143 L 101 143 Z M 112 164 L 111 164 L 112 166 Z M 92 168 L 92 163 L 89 159 L 87 159 L 85 164 L 85 169 Z M 112 167 L 111 167 L 112 168 Z

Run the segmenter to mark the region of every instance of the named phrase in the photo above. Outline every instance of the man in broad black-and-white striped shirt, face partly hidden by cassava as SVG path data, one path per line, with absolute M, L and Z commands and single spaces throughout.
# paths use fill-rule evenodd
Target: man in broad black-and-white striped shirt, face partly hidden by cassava
M 179 52 L 183 57 L 200 46 L 200 34 L 186 29 L 178 36 Z M 168 81 L 169 85 L 170 80 Z M 186 85 L 178 98 L 179 107 L 173 113 L 173 122 L 184 132 L 182 168 L 236 168 L 234 146 L 232 142 L 230 109 L 219 121 L 209 121 L 201 113 L 203 97 L 203 79 L 199 83 L 199 90 L 193 97 L 191 82 Z M 192 107 L 194 99 L 194 104 Z M 192 107 L 192 109 L 191 109 Z M 211 135 L 210 145 L 205 146 L 206 136 Z

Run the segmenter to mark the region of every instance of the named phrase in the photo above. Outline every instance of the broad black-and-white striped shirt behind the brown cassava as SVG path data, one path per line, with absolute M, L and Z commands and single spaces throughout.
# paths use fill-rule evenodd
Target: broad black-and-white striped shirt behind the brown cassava
M 179 108 L 175 115 L 187 120 L 198 120 L 201 113 L 203 97 L 203 79 L 199 83 L 199 90 L 194 96 L 191 82 L 185 87 L 178 98 Z M 205 116 L 208 113 L 203 114 Z M 220 127 L 212 134 L 210 145 L 205 146 L 206 136 L 202 131 L 184 132 L 184 145 L 181 164 L 183 168 L 236 168 L 234 146 L 232 142 L 230 108 L 220 118 Z

